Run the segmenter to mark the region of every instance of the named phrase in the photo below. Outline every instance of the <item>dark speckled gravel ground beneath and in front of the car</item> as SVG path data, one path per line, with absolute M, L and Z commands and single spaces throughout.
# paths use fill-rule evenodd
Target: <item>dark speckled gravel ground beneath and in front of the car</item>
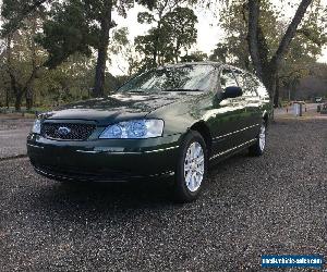
M 262 158 L 217 164 L 187 205 L 159 183 L 68 186 L 27 159 L 0 162 L 0 270 L 259 271 L 263 254 L 327 258 L 326 139 L 326 121 L 279 121 Z

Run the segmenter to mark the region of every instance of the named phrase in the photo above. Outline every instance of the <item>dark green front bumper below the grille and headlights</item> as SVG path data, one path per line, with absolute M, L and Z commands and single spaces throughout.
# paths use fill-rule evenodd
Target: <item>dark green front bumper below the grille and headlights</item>
M 27 154 L 36 172 L 52 180 L 154 180 L 174 174 L 180 138 L 65 141 L 31 134 Z

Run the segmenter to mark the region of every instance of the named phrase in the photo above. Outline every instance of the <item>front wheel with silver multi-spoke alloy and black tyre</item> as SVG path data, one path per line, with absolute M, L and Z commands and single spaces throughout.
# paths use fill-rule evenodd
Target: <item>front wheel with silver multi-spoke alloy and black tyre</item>
M 198 132 L 191 131 L 181 146 L 175 173 L 175 197 L 180 202 L 195 200 L 207 175 L 207 147 Z

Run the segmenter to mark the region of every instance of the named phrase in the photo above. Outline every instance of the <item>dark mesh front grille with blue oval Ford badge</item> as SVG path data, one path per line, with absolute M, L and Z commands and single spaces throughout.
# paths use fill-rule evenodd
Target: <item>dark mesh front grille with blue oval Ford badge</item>
M 95 128 L 92 124 L 44 123 L 41 136 L 50 139 L 86 140 Z

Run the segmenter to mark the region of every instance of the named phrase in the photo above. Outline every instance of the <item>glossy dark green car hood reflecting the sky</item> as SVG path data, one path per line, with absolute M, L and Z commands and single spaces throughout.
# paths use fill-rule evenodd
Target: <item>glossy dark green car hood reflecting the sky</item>
M 131 118 L 144 118 L 148 113 L 181 99 L 194 96 L 190 91 L 162 91 L 160 94 L 114 94 L 66 104 L 43 115 L 48 120 L 93 120 L 120 122 Z

